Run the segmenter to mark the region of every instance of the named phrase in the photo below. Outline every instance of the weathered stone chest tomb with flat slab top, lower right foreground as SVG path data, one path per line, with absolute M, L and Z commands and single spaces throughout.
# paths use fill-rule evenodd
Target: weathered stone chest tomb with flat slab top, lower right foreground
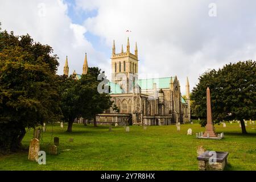
M 211 152 L 209 155 L 209 152 Z M 215 151 L 205 151 L 204 154 L 197 156 L 199 160 L 199 170 L 200 171 L 223 171 L 226 164 L 228 164 L 228 152 L 216 152 L 216 158 L 214 159 Z M 209 162 L 210 159 L 210 162 Z M 214 162 L 213 163 L 213 160 Z

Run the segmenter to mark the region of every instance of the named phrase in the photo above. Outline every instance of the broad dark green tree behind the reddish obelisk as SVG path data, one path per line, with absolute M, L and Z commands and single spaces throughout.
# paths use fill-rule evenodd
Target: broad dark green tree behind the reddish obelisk
M 243 119 L 256 118 L 256 62 L 239 61 L 226 64 L 223 68 L 205 72 L 199 84 L 192 90 L 193 115 L 207 115 L 206 90 L 210 88 L 214 122 L 238 119 L 242 133 L 246 134 Z M 205 125 L 205 123 L 203 123 Z

